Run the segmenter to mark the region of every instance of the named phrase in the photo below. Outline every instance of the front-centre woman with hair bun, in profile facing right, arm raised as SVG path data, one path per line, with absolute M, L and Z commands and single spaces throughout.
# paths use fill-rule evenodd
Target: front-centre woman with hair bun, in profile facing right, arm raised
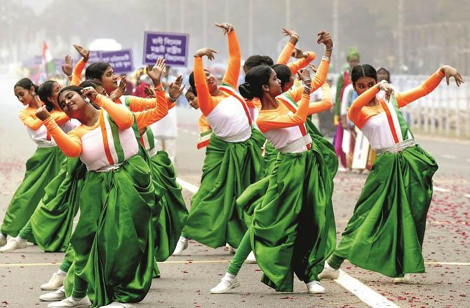
M 330 34 L 322 31 L 318 33 L 318 43 L 325 43 L 325 56 L 313 85 L 308 71 L 303 72 L 298 106 L 294 99 L 279 97 L 281 83 L 269 66 L 248 71 L 246 83 L 239 87 L 243 97 L 261 100 L 258 127 L 280 153 L 267 178 L 269 186 L 262 203 L 255 209 L 246 204 L 245 209 L 253 213 L 253 224 L 227 273 L 211 293 L 226 293 L 239 286 L 236 274 L 250 248 L 264 272 L 262 281 L 275 290 L 292 291 L 294 273 L 307 283 L 309 293 L 325 290 L 317 274 L 335 247 L 333 179 L 304 124 L 309 113 L 324 108 L 321 104 L 309 106 L 309 95 L 311 87 L 318 88 L 325 82 L 333 42 Z

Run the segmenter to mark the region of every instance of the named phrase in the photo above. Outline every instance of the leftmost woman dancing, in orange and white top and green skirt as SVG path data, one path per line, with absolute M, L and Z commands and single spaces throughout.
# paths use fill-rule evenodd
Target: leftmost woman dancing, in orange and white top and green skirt
M 27 108 L 20 111 L 20 120 L 26 126 L 29 137 L 37 145 L 36 151 L 26 162 L 25 179 L 15 191 L 0 228 L 0 246 L 6 245 L 6 237 L 10 235 L 11 245 L 18 244 L 24 248 L 26 241 L 17 241 L 20 230 L 27 224 L 44 195 L 44 188 L 51 183 L 60 171 L 65 156 L 48 134 L 42 121 L 34 113 L 42 102 L 37 95 L 39 87 L 28 78 L 22 78 L 13 87 L 15 96 Z M 51 116 L 58 125 L 67 123 L 70 119 L 62 111 L 51 111 Z M 30 238 L 33 240 L 32 238 Z M 16 243 L 13 243 L 15 241 Z

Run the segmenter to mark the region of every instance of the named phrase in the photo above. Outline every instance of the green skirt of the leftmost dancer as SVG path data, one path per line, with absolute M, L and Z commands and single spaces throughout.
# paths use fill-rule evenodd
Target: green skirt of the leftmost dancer
M 31 218 L 44 189 L 57 176 L 65 155 L 58 146 L 36 148 L 26 162 L 25 179 L 15 191 L 6 210 L 1 232 L 16 237 Z

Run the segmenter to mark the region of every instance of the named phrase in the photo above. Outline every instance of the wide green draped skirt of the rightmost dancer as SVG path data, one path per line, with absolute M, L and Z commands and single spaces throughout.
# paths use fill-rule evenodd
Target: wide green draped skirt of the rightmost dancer
M 419 146 L 377 156 L 335 255 L 374 272 L 423 273 L 434 158 Z

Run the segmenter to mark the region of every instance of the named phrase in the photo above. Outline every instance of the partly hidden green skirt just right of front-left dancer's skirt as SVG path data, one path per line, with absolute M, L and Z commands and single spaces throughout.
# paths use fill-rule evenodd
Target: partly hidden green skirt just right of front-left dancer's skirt
M 161 196 L 159 215 L 152 216 L 155 228 L 155 259 L 163 262 L 175 251 L 178 239 L 186 223 L 188 210 L 181 193 L 181 186 L 176 183 L 176 172 L 165 151 L 159 151 L 150 159 L 152 179 L 166 188 Z

